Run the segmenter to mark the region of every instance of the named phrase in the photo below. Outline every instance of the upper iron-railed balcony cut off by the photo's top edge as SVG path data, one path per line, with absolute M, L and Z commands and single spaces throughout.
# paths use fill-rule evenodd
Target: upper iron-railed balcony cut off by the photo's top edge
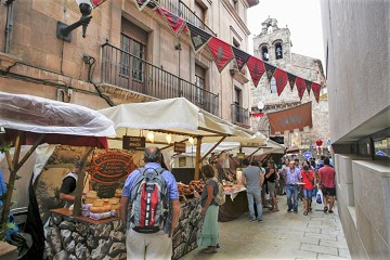
M 186 22 L 197 26 L 198 28 L 205 30 L 206 32 L 217 36 L 205 23 L 202 21 L 195 12 L 193 12 L 183 1 L 179 0 L 160 0 L 158 1 L 161 6 L 170 11 L 171 13 L 178 15 L 179 17 L 185 20 Z

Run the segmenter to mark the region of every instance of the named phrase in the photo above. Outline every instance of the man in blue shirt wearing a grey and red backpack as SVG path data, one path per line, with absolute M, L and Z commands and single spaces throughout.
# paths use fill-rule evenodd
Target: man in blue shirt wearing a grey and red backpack
M 120 199 L 120 219 L 126 226 L 127 259 L 172 257 L 172 235 L 179 223 L 177 181 L 161 168 L 161 152 L 146 147 L 145 166 L 130 173 Z

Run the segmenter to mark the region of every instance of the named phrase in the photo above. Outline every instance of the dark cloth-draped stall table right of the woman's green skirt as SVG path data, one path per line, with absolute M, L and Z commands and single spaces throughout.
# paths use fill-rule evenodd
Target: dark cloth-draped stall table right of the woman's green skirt
M 220 206 L 218 213 L 219 222 L 237 219 L 248 211 L 248 197 L 244 186 L 225 191 L 225 194 L 226 200 Z

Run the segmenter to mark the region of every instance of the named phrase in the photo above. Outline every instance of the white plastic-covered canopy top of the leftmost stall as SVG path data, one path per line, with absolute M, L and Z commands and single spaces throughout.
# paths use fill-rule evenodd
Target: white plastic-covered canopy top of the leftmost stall
M 0 127 L 35 133 L 115 134 L 113 121 L 88 107 L 5 92 L 0 92 Z

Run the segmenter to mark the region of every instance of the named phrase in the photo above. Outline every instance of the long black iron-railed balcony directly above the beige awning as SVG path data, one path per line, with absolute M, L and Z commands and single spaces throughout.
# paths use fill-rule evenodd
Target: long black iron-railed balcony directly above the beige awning
M 102 46 L 102 82 L 159 100 L 185 98 L 218 115 L 219 96 L 109 43 Z

